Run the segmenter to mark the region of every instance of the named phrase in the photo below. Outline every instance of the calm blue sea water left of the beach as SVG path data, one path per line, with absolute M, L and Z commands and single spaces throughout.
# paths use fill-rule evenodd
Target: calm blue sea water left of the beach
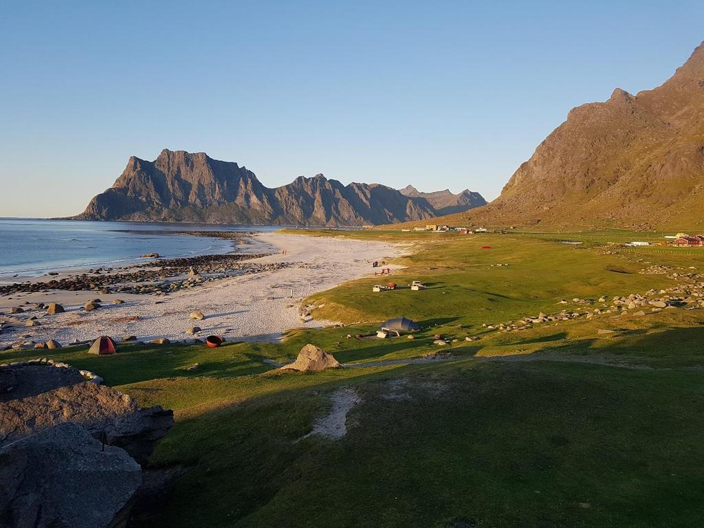
M 252 225 L 161 224 L 0 218 L 0 280 L 52 270 L 126 265 L 144 253 L 167 258 L 234 251 L 234 241 L 149 231 L 275 231 Z

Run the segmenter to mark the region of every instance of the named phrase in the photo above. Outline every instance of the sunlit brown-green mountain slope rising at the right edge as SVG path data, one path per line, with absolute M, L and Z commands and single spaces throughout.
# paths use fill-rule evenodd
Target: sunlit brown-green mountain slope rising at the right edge
M 448 223 L 703 225 L 704 44 L 662 86 L 570 111 L 489 206 Z

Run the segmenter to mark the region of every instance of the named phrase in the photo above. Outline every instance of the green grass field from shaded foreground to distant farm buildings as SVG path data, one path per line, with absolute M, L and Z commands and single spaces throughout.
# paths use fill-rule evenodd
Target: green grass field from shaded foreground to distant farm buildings
M 639 271 L 701 271 L 704 251 L 609 244 L 643 239 L 628 232 L 590 233 L 580 246 L 544 233 L 308 234 L 410 244 L 391 280 L 428 289 L 372 293 L 380 282 L 372 278 L 316 294 L 315 317 L 349 326 L 292 330 L 281 344 L 52 351 L 144 406 L 175 410 L 150 465 L 185 472 L 140 526 L 701 526 L 704 310 L 610 313 L 517 332 L 484 325 L 671 287 L 673 279 Z M 415 339 L 346 337 L 400 315 L 422 325 Z M 442 348 L 444 360 L 416 362 L 439 351 L 434 334 L 458 341 Z M 362 365 L 301 375 L 265 362 L 291 360 L 306 343 Z M 184 370 L 196 362 L 199 370 Z M 303 439 L 341 386 L 361 400 L 346 436 Z

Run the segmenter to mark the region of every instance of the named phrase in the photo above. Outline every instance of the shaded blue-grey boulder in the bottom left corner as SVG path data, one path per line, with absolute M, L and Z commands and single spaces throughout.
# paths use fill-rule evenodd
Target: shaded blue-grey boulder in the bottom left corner
M 126 451 L 63 423 L 0 448 L 0 526 L 124 526 L 142 471 Z

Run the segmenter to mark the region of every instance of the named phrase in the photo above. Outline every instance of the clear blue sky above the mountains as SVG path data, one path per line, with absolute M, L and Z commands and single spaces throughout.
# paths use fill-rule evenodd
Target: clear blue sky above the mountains
M 573 106 L 667 80 L 704 1 L 0 1 L 0 216 L 204 151 L 494 199 Z

